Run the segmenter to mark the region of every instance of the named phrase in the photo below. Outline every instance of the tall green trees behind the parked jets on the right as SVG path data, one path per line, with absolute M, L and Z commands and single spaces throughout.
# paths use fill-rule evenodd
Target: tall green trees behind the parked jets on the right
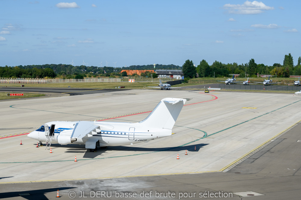
M 240 74 L 238 77 L 245 77 L 247 73 L 249 77 L 257 77 L 258 74 L 277 75 L 277 77 L 290 77 L 290 75 L 301 76 L 301 57 L 298 58 L 297 65 L 294 66 L 293 57 L 289 53 L 284 56 L 283 65 L 275 63 L 272 66 L 265 64 L 256 64 L 252 58 L 246 64 L 228 63 L 223 64 L 214 61 L 209 65 L 206 60 L 200 61 L 197 67 L 191 60 L 186 60 L 182 66 L 184 78 L 196 77 L 228 77 L 229 74 Z

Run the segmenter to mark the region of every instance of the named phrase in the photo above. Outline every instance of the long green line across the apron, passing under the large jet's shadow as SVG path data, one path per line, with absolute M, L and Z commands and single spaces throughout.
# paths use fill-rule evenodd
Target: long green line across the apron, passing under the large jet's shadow
M 299 101 L 301 101 L 301 100 L 299 100 Z M 265 114 L 259 115 L 259 116 L 257 116 L 257 117 L 254 117 L 254 118 L 249 119 L 249 120 L 247 120 L 247 121 L 241 122 L 241 123 L 236 124 L 236 125 L 234 125 L 234 126 L 225 128 L 225 129 L 220 130 L 220 131 L 218 131 L 218 132 L 216 132 L 216 133 L 220 133 L 220 132 L 222 132 L 222 131 L 228 130 L 228 129 L 233 128 L 233 127 L 236 127 L 236 126 L 238 126 L 238 125 L 240 125 L 240 124 L 244 124 L 244 123 L 246 123 L 246 122 L 248 122 L 248 121 L 251 121 L 251 120 L 253 120 L 253 119 L 257 119 L 257 118 L 259 118 L 259 117 L 262 117 L 262 116 L 267 115 L 267 114 L 269 114 L 269 113 L 275 112 L 275 111 L 277 111 L 277 110 L 280 110 L 280 109 L 282 109 L 282 108 L 285 108 L 285 107 L 287 107 L 287 106 L 290 106 L 290 105 L 292 105 L 292 104 L 294 104 L 294 103 L 297 103 L 297 102 L 299 102 L 299 101 L 290 103 L 290 104 L 288 104 L 288 105 L 286 105 L 286 106 L 282 106 L 281 108 L 272 110 L 271 112 L 267 112 L 267 113 L 265 113 Z M 178 127 L 181 127 L 181 126 L 178 126 Z M 184 127 L 184 128 L 190 128 L 190 127 Z M 195 128 L 190 128 L 190 129 L 195 129 Z M 195 129 L 195 130 L 199 130 L 199 129 Z M 202 131 L 202 130 L 199 130 L 199 131 Z M 184 145 L 180 145 L 180 146 L 177 146 L 177 147 L 171 147 L 171 148 L 169 148 L 169 149 L 165 149 L 165 150 L 161 150 L 161 151 L 153 151 L 153 152 L 147 152 L 147 153 L 141 153 L 141 154 L 132 154 L 132 155 L 126 155 L 126 156 L 112 156 L 112 157 L 105 157 L 105 158 L 88 158 L 88 159 L 76 159 L 76 160 L 78 160 L 78 161 L 79 161 L 79 160 L 100 160 L 100 159 L 106 159 L 106 158 L 119 158 L 119 157 L 129 157 L 129 156 L 138 156 L 138 155 L 152 154 L 152 153 L 157 153 L 157 152 L 162 152 L 162 151 L 168 151 L 168 150 L 175 149 L 175 148 L 178 148 L 178 147 L 183 147 L 183 146 L 185 146 L 185 145 L 191 144 L 191 143 L 193 143 L 193 142 L 197 142 L 197 141 L 199 141 L 199 140 L 201 140 L 201 139 L 204 139 L 204 138 L 206 138 L 206 137 L 209 137 L 209 136 L 212 136 L 212 135 L 215 135 L 215 134 L 216 134 L 216 133 L 212 133 L 212 134 L 209 134 L 209 135 L 208 135 L 205 131 L 202 131 L 202 132 L 204 133 L 204 136 L 203 136 L 202 138 L 200 138 L 200 139 L 196 139 L 196 140 L 191 141 L 191 142 L 188 142 L 188 143 L 186 143 L 186 144 L 184 144 Z M 65 162 L 65 161 L 74 161 L 74 160 L 31 161 L 31 162 L 5 162 L 5 163 L 0 163 L 0 164 L 7 164 L 7 163 L 50 163 L 50 162 Z

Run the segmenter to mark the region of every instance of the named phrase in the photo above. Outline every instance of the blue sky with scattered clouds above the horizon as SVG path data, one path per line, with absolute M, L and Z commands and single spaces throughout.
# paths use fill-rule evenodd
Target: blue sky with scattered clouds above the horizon
M 300 48 L 301 1 L 0 0 L 0 66 L 283 64 Z

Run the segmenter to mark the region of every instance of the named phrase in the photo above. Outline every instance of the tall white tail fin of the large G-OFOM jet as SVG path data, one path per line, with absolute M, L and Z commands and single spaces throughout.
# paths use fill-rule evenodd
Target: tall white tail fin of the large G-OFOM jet
M 147 118 L 139 123 L 155 128 L 172 129 L 185 102 L 186 99 L 162 99 Z

